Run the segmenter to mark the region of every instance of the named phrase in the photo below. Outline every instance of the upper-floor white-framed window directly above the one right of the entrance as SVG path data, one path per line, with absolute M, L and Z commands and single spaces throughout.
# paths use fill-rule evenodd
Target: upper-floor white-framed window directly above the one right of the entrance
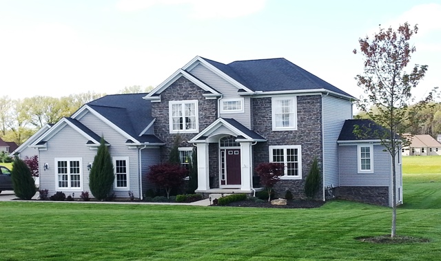
M 297 129 L 297 97 L 273 97 L 271 100 L 273 130 Z

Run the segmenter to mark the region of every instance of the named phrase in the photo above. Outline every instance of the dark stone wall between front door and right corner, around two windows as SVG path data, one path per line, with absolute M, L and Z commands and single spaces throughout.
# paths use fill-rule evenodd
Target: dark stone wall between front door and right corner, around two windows
M 255 169 L 260 163 L 269 162 L 269 146 L 301 145 L 302 146 L 302 179 L 280 180 L 274 187 L 276 197 L 283 198 L 289 189 L 295 198 L 305 198 L 305 179 L 309 167 L 317 157 L 322 169 L 322 97 L 320 95 L 297 96 L 297 130 L 272 130 L 271 98 L 252 98 L 254 114 L 252 129 L 267 139 L 265 143 L 254 145 L 253 162 Z M 316 199 L 322 199 L 322 185 Z

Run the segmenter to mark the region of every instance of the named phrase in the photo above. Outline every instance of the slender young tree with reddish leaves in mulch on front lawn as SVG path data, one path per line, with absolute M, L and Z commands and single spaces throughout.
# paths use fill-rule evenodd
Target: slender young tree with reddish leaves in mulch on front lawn
M 361 97 L 358 107 L 369 118 L 382 126 L 387 131 L 376 132 L 382 145 L 391 154 L 392 162 L 400 152 L 400 147 L 405 140 L 396 138 L 396 134 L 402 134 L 409 126 L 409 120 L 415 120 L 417 112 L 432 100 L 435 89 L 429 92 L 426 98 L 419 101 L 413 107 L 409 103 L 415 101 L 411 89 L 416 87 L 427 71 L 427 65 L 414 65 L 410 72 L 405 69 L 411 59 L 411 54 L 416 48 L 411 46 L 409 40 L 418 32 L 415 25 L 413 29 L 408 23 L 400 25 L 398 30 L 389 28 L 372 38 L 366 36 L 359 39 L 360 52 L 364 59 L 365 69 L 362 74 L 356 76 L 360 86 L 367 97 Z M 357 50 L 353 50 L 354 54 Z M 377 113 L 369 110 L 375 106 Z M 391 237 L 396 236 L 396 165 L 392 164 L 392 226 Z

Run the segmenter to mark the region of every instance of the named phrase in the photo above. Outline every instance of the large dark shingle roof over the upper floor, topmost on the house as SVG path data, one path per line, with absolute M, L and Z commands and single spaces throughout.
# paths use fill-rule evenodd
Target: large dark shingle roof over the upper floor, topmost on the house
M 284 58 L 234 61 L 227 65 L 203 59 L 252 91 L 325 89 L 351 96 Z

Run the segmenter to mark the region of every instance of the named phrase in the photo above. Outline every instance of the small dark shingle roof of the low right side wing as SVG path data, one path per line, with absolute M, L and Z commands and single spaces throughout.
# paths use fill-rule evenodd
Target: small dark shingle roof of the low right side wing
M 363 132 L 362 135 L 353 132 L 356 126 Z M 376 132 L 381 134 L 384 132 L 387 133 L 388 130 L 367 119 L 346 120 L 345 124 L 343 124 L 340 136 L 338 136 L 338 140 L 379 140 L 380 138 L 378 138 Z M 398 135 L 396 135 L 396 138 L 399 138 Z

